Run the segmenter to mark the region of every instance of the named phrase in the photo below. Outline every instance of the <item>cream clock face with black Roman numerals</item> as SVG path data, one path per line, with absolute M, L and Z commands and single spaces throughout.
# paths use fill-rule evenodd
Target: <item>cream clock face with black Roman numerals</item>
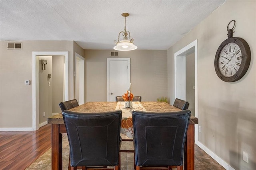
M 242 52 L 240 47 L 230 42 L 220 51 L 218 67 L 220 72 L 226 77 L 232 77 L 239 70 L 242 61 Z

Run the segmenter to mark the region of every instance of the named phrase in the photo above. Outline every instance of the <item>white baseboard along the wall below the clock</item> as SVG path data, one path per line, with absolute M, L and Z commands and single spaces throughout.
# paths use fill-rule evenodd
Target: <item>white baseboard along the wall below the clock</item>
M 220 157 L 218 157 L 216 154 L 214 154 L 210 149 L 206 148 L 206 146 L 204 146 L 201 142 L 196 141 L 196 144 L 197 144 L 202 150 L 204 150 L 204 152 L 206 152 L 210 157 L 212 157 L 214 160 L 216 160 L 216 162 L 218 162 L 221 166 L 223 166 L 226 170 L 235 170 L 235 169 L 232 168 L 232 166 L 230 166 L 227 162 L 225 162 L 225 161 L 222 160 Z

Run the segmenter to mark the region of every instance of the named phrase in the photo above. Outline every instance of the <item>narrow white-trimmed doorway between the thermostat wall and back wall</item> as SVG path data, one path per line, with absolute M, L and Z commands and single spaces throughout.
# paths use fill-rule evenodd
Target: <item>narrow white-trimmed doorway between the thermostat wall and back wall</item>
M 84 104 L 84 58 L 75 52 L 75 98 L 79 105 Z

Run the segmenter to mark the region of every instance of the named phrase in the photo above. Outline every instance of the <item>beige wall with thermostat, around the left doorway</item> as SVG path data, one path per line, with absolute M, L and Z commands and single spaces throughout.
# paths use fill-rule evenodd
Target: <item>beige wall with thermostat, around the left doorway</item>
M 32 127 L 33 51 L 69 51 L 69 98 L 74 96 L 73 41 L 22 41 L 22 50 L 7 50 L 0 41 L 0 128 Z

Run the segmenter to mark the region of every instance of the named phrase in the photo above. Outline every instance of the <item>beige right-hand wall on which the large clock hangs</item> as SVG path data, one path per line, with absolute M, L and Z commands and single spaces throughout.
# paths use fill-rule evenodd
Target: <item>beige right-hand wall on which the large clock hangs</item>
M 252 59 L 245 76 L 224 82 L 214 69 L 227 25 L 236 20 L 234 37 L 244 38 Z M 174 94 L 174 53 L 198 39 L 199 142 L 236 170 L 256 169 L 256 1 L 228 0 L 182 40 L 168 49 L 168 94 Z M 173 96 L 172 96 L 173 98 Z M 243 151 L 249 154 L 244 162 Z

